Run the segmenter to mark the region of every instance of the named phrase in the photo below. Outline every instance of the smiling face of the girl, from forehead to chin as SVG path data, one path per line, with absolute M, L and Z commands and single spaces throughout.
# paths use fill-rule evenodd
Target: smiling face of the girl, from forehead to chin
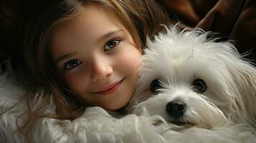
M 86 6 L 54 31 L 51 54 L 68 89 L 85 102 L 114 110 L 133 96 L 141 52 L 115 14 Z

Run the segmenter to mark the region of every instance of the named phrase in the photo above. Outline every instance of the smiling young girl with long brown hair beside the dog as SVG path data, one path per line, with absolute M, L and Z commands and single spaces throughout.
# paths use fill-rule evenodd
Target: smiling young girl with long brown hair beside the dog
M 156 1 L 65 0 L 43 9 L 25 34 L 22 75 L 28 73 L 26 98 L 37 109 L 28 109 L 20 129 L 41 117 L 76 119 L 90 106 L 125 107 L 136 89 L 146 35 L 168 22 Z M 44 98 L 32 102 L 41 88 Z M 40 114 L 49 102 L 55 114 Z

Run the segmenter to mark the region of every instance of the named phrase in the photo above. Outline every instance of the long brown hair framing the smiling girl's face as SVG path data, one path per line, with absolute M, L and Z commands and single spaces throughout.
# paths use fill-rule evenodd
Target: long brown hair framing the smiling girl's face
M 24 69 L 27 73 L 27 103 L 32 104 L 34 94 L 44 88 L 44 98 L 37 104 L 37 109 L 29 108 L 29 119 L 19 129 L 23 130 L 41 117 L 57 119 L 75 119 L 85 112 L 86 103 L 65 88 L 62 79 L 57 75 L 49 54 L 50 37 L 56 26 L 71 20 L 87 4 L 97 4 L 106 11 L 113 11 L 126 29 L 130 32 L 136 46 L 143 48 L 146 36 L 153 36 L 167 24 L 167 15 L 154 0 L 65 0 L 50 1 L 51 4 L 28 21 L 24 34 Z M 39 111 L 52 100 L 56 114 L 39 114 Z

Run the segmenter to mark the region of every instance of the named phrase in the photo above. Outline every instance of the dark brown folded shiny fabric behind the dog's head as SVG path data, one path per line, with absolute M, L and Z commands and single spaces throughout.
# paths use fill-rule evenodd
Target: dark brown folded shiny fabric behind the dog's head
M 255 0 L 159 0 L 169 12 L 171 22 L 181 28 L 199 27 L 234 40 L 240 53 L 256 60 Z M 253 50 L 252 50 L 253 49 Z M 256 63 L 256 62 L 255 62 Z

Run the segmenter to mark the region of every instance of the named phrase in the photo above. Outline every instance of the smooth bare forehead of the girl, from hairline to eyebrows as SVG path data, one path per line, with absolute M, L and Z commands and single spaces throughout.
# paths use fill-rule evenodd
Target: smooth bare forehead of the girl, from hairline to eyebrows
M 131 36 L 113 12 L 105 11 L 100 6 L 85 6 L 79 15 L 61 24 L 53 32 L 51 51 L 53 56 L 57 56 L 77 47 L 95 47 L 105 42 L 104 36 L 111 32 L 119 36 Z

